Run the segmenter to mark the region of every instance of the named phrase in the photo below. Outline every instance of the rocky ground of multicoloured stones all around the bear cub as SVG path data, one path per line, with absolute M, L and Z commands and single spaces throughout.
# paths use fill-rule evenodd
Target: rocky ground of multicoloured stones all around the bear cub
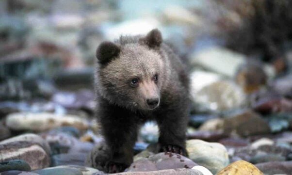
M 149 122 L 118 175 L 292 175 L 292 3 L 253 0 L 274 8 L 252 20 L 249 0 L 149 1 L 0 1 L 0 175 L 104 175 L 95 50 L 153 28 L 189 65 L 189 157 L 156 152 Z M 287 16 L 278 37 L 277 12 Z

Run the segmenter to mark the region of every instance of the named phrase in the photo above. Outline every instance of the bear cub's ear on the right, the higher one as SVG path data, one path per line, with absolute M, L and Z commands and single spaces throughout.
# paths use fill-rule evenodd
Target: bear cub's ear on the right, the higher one
M 162 35 L 158 29 L 153 29 L 140 42 L 146 44 L 149 48 L 159 48 L 162 44 Z

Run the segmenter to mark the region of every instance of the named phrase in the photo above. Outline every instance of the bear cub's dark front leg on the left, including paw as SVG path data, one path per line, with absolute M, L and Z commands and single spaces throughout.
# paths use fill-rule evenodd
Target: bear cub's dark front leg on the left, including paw
M 123 172 L 133 161 L 133 146 L 137 139 L 138 124 L 134 117 L 124 109 L 103 110 L 100 124 L 109 159 L 102 163 L 107 173 Z M 98 159 L 96 159 L 98 161 Z

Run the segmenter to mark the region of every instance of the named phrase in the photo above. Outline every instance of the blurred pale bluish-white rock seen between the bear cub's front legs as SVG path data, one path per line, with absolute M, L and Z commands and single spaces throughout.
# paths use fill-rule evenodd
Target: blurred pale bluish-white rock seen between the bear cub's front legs
M 159 128 L 154 122 L 147 122 L 140 129 L 140 136 L 146 143 L 157 143 L 159 136 Z

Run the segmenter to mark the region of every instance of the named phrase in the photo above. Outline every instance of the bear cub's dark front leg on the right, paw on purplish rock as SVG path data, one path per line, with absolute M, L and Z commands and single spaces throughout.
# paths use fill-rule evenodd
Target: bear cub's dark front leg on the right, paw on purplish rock
M 186 129 L 188 124 L 187 109 L 169 109 L 157 119 L 160 136 L 160 152 L 172 152 L 188 156 L 185 149 Z

